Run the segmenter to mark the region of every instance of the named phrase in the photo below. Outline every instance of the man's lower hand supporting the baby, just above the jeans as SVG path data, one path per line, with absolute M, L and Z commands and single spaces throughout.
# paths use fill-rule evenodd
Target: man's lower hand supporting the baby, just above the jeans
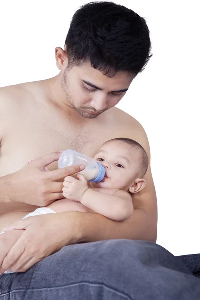
M 31 216 L 13 222 L 3 230 L 5 233 L 2 236 L 15 232 L 13 229 L 25 229 L 25 231 L 21 230 L 24 233 L 8 254 L 0 252 L 0 273 L 5 270 L 26 272 L 35 263 L 59 251 L 63 246 L 75 243 L 80 233 L 74 219 L 73 212 L 69 211 Z M 10 229 L 13 231 L 8 231 Z M 0 249 L 4 251 L 5 246 L 6 243 L 2 243 L 2 246 L 0 244 Z M 9 246 L 7 248 L 10 249 Z

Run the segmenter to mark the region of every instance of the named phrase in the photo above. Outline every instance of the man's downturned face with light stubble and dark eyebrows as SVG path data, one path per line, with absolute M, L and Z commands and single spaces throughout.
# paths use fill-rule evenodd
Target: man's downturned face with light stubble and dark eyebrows
M 118 72 L 109 78 L 84 64 L 69 71 L 66 67 L 61 83 L 71 106 L 85 118 L 96 118 L 122 99 L 134 77 L 127 72 Z

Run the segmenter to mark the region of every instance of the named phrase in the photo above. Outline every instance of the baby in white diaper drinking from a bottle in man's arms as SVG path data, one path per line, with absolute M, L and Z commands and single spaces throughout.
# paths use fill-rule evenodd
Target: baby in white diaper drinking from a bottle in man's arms
M 65 199 L 37 208 L 24 218 L 45 213 L 82 211 L 99 213 L 115 221 L 128 219 L 134 210 L 131 194 L 145 187 L 146 182 L 142 178 L 148 168 L 146 151 L 132 139 L 114 138 L 100 147 L 94 160 L 105 167 L 101 182 L 87 182 L 79 173 L 76 174 L 79 180 L 67 176 L 62 189 Z

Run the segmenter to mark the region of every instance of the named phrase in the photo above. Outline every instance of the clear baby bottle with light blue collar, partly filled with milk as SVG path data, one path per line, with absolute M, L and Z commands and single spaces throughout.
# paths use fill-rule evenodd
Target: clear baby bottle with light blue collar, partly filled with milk
M 78 173 L 83 174 L 84 177 L 90 182 L 100 182 L 105 176 L 104 166 L 95 161 L 93 158 L 71 149 L 65 150 L 60 155 L 58 160 L 58 168 L 75 164 L 85 165 L 85 169 Z

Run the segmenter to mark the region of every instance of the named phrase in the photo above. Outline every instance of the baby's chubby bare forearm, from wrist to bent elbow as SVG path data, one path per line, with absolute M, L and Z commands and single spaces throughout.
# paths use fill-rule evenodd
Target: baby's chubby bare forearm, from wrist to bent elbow
M 80 203 L 115 221 L 128 219 L 134 210 L 131 195 L 123 190 L 110 195 L 88 188 Z

